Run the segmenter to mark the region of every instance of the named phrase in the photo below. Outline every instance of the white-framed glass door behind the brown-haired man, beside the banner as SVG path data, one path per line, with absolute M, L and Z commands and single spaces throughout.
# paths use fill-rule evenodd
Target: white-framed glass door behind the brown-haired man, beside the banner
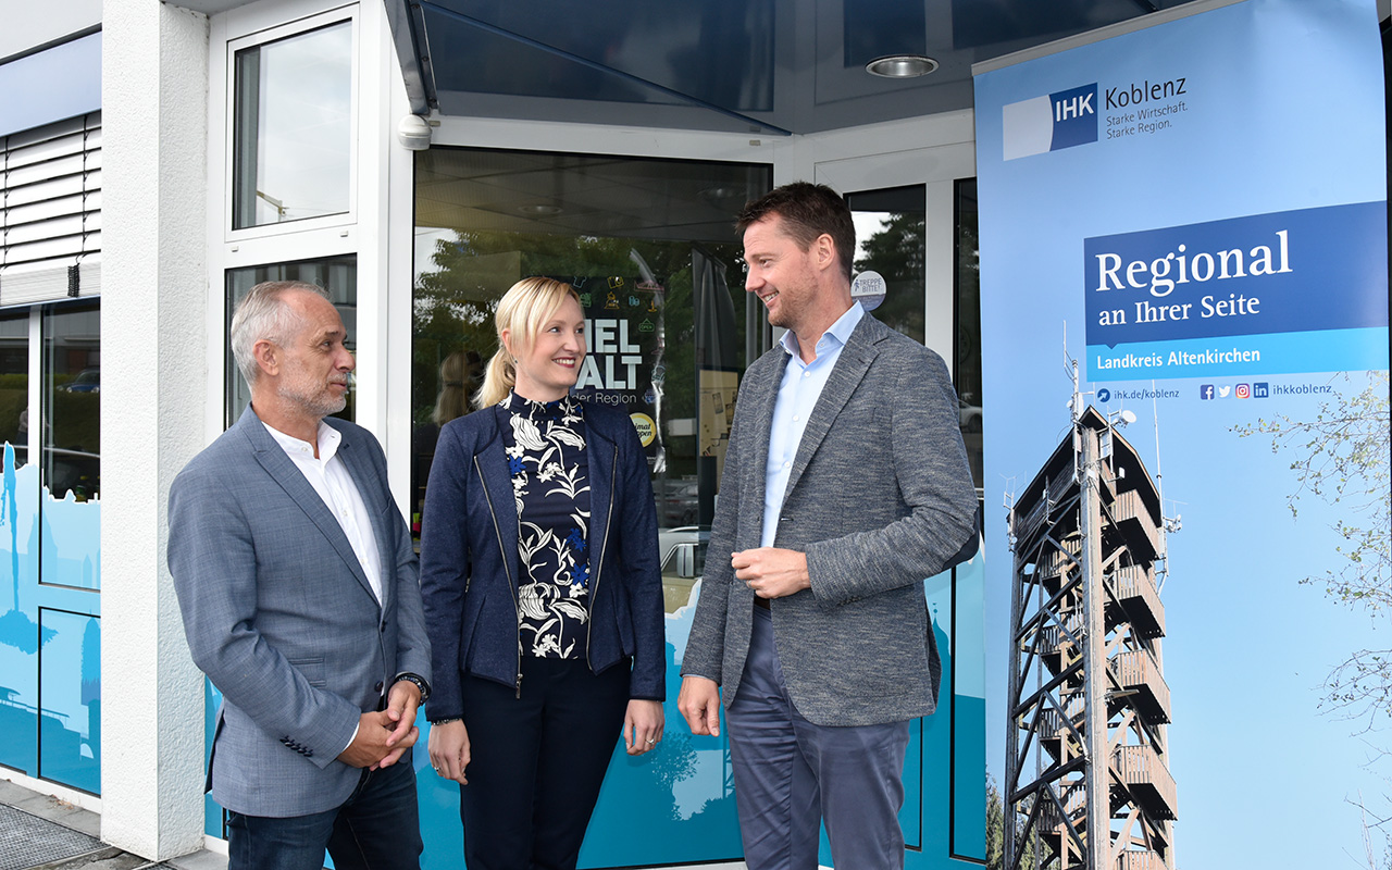
M 845 193 L 856 224 L 856 276 L 884 278 L 870 316 L 926 344 L 947 362 L 958 390 L 963 444 L 981 487 L 980 329 L 976 182 L 969 148 L 876 155 L 866 136 L 855 159 L 817 164 L 817 181 Z M 845 143 L 839 143 L 846 149 Z M 851 146 L 855 150 L 855 146 Z M 981 558 L 924 580 L 928 619 L 942 654 L 934 715 L 910 724 L 905 866 L 965 867 L 986 860 L 986 713 Z M 823 841 L 821 863 L 831 864 Z

